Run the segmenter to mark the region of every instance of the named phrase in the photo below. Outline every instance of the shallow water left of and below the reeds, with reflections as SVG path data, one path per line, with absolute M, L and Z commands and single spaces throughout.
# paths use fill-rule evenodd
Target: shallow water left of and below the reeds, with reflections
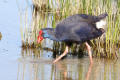
M 51 51 L 21 49 L 18 3 L 22 5 L 22 11 L 26 3 L 17 1 L 0 2 L 1 80 L 120 80 L 120 59 L 94 58 L 94 63 L 90 65 L 88 56 L 78 59 L 68 55 L 52 64 Z M 27 5 L 31 6 L 31 3 Z

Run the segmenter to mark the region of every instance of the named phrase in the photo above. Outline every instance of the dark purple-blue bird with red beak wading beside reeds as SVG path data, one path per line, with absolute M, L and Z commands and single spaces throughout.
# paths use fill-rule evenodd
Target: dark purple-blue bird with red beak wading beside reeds
M 60 21 L 56 28 L 40 29 L 37 37 L 37 42 L 40 43 L 43 39 L 51 39 L 53 41 L 65 42 L 66 47 L 64 52 L 56 58 L 53 63 L 58 62 L 69 52 L 69 47 L 73 43 L 85 43 L 90 63 L 93 63 L 91 47 L 88 41 L 102 36 L 105 33 L 103 26 L 106 25 L 107 13 L 102 13 L 98 16 L 88 14 L 74 14 Z

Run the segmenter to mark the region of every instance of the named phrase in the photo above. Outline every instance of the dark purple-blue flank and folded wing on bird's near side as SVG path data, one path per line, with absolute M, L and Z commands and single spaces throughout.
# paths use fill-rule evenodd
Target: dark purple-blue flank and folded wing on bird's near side
M 70 23 L 67 25 L 57 26 L 55 29 L 56 37 L 61 41 L 77 41 L 85 42 L 102 33 L 95 27 L 94 24 L 87 22 Z

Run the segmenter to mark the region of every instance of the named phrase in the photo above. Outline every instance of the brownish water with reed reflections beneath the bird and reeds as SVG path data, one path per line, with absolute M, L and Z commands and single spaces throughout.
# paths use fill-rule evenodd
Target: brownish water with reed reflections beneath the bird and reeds
M 36 50 L 35 50 L 36 51 Z M 119 80 L 119 60 L 95 59 L 89 64 L 89 58 L 66 57 L 52 64 L 52 52 L 43 50 L 22 51 L 18 59 L 17 80 Z M 39 55 L 38 55 L 39 54 Z M 47 56 L 46 56 L 47 55 Z

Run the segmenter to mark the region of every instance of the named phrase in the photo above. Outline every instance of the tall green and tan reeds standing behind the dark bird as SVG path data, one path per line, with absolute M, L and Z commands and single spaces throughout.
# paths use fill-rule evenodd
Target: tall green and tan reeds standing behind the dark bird
M 63 51 L 64 43 L 45 40 L 42 44 L 37 44 L 38 31 L 44 27 L 55 28 L 59 21 L 73 14 L 99 15 L 104 12 L 108 13 L 107 25 L 104 27 L 106 33 L 99 39 L 91 40 L 93 55 L 115 58 L 120 47 L 120 0 L 33 0 L 32 20 L 29 25 L 27 11 L 24 16 L 20 16 L 23 24 L 21 25 L 22 47 L 36 48 L 41 45 L 45 47 L 49 42 L 53 43 L 52 46 L 56 44 L 56 50 Z M 77 51 L 75 46 L 73 45 L 71 51 Z

